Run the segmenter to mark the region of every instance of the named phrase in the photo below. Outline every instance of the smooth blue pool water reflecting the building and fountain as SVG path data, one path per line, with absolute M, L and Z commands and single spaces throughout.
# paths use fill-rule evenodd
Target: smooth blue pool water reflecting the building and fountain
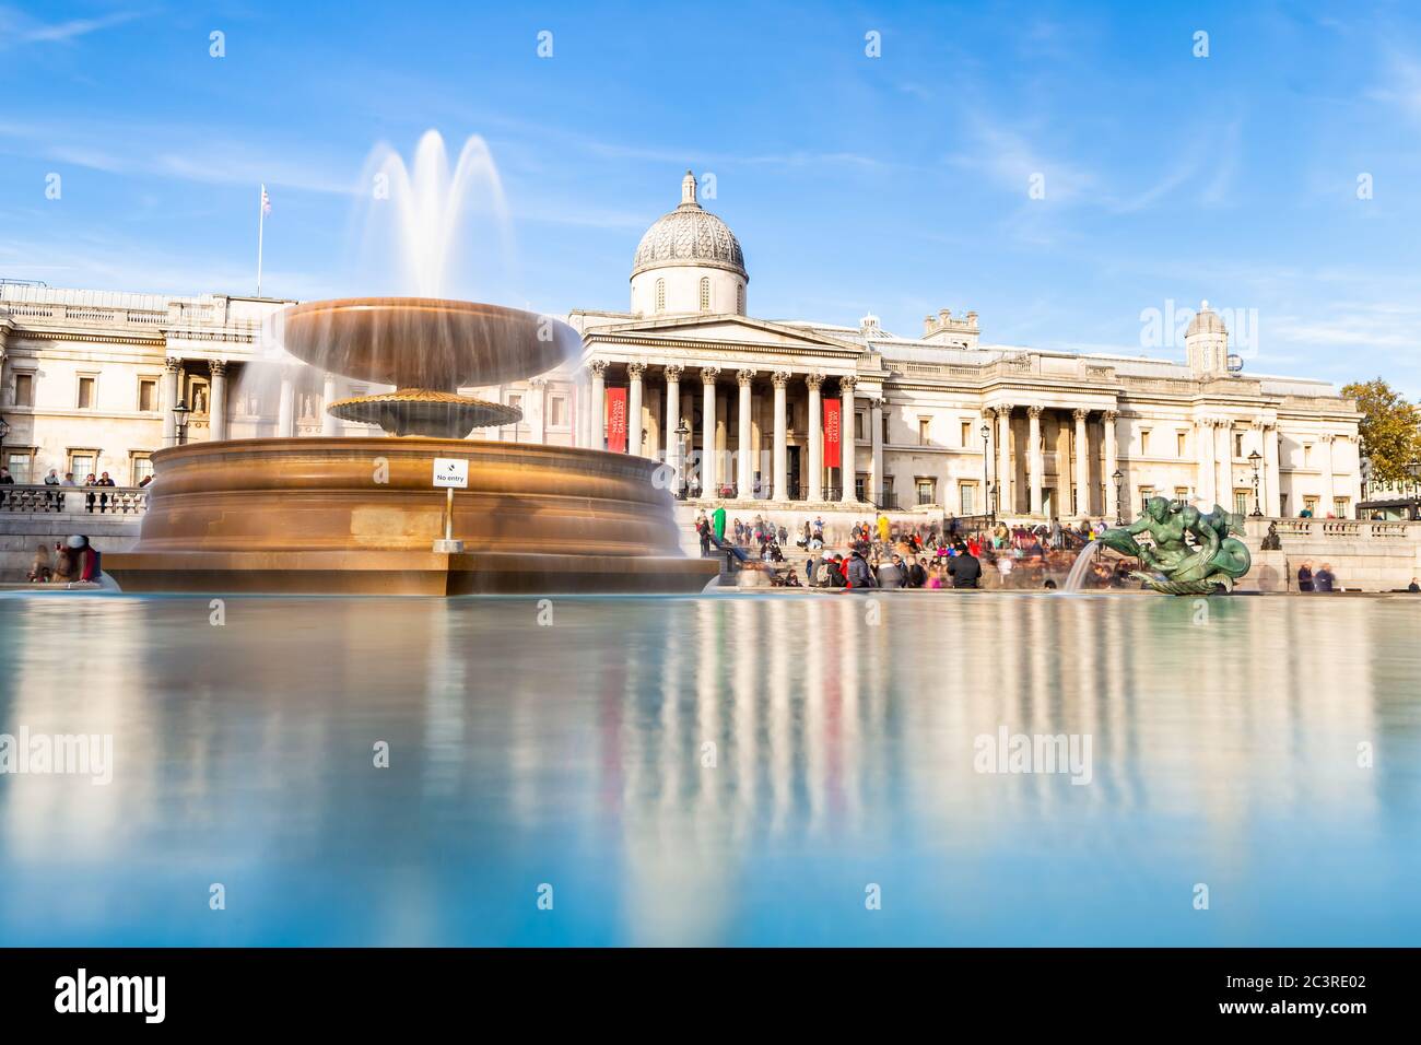
M 1421 600 L 210 614 L 0 597 L 0 734 L 114 738 L 0 775 L 0 944 L 1421 944 Z

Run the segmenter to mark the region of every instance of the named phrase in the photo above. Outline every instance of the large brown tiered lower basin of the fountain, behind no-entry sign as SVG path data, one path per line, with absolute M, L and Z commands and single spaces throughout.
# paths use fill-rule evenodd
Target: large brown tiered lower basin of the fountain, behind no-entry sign
M 469 461 L 453 536 L 435 458 Z M 233 439 L 153 455 L 139 540 L 104 556 L 125 591 L 699 591 L 657 462 L 469 439 Z

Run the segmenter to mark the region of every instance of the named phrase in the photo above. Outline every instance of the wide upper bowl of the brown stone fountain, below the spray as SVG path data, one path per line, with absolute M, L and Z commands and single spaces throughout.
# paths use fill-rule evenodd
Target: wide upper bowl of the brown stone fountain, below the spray
M 433 297 L 348 297 L 280 313 L 280 340 L 313 367 L 396 388 L 455 391 L 534 377 L 577 355 L 550 316 Z

